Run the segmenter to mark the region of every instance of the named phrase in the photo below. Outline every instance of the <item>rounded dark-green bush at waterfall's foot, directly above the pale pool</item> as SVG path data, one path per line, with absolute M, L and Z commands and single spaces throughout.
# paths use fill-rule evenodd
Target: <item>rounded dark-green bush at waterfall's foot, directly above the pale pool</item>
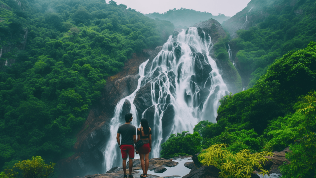
M 171 134 L 165 143 L 161 144 L 161 157 L 165 159 L 173 158 L 179 155 L 193 155 L 202 150 L 202 137 L 194 132 L 183 131 L 181 134 Z

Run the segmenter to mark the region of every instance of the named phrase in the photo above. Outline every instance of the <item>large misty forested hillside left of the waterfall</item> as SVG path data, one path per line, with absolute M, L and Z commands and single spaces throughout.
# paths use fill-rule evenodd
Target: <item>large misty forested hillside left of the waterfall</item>
M 106 76 L 174 28 L 104 0 L 1 0 L 0 17 L 0 168 L 70 156 Z

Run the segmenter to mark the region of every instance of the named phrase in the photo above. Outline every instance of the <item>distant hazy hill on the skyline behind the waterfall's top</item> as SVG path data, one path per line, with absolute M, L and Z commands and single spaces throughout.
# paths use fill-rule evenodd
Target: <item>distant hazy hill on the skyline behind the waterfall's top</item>
M 178 9 L 178 10 L 174 8 L 162 14 L 154 12 L 150 14 L 145 14 L 145 16 L 148 16 L 152 19 L 158 18 L 161 20 L 167 20 L 167 21 L 172 22 L 176 28 L 184 28 L 184 29 L 196 24 L 197 22 L 209 20 L 210 18 L 213 18 L 220 23 L 230 18 L 230 17 L 225 16 L 224 14 L 213 16 L 211 13 L 208 13 L 208 12 L 200 12 L 200 11 L 195 11 L 193 9 L 183 9 L 183 8 Z

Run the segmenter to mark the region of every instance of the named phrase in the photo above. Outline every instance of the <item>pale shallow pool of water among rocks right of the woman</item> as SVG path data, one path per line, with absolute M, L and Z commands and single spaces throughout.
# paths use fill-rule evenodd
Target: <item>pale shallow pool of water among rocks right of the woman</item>
M 188 158 L 175 158 L 172 161 L 179 162 L 179 164 L 176 165 L 175 167 L 171 167 L 171 168 L 166 167 L 167 170 L 165 172 L 163 172 L 163 173 L 155 173 L 154 170 L 152 170 L 152 171 L 148 170 L 147 174 L 158 175 L 159 177 L 166 177 L 166 176 L 172 176 L 172 175 L 179 175 L 179 176 L 183 177 L 183 176 L 189 174 L 191 169 L 185 167 L 184 163 L 192 162 L 191 157 L 188 157 Z

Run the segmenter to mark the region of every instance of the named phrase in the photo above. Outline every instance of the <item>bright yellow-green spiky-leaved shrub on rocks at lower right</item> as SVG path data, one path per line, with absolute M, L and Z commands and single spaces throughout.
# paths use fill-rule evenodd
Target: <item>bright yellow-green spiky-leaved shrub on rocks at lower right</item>
M 230 178 L 250 178 L 254 167 L 265 175 L 269 171 L 262 167 L 268 159 L 266 156 L 272 156 L 271 152 L 260 152 L 250 154 L 250 150 L 244 149 L 236 154 L 232 154 L 226 144 L 216 144 L 202 151 L 198 156 L 199 161 L 203 165 L 213 165 L 221 170 L 221 177 Z

